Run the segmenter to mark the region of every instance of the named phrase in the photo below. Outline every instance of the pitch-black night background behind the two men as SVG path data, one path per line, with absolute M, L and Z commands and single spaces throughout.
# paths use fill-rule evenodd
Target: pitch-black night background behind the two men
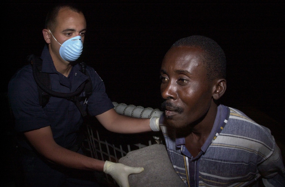
M 283 1 L 104 2 L 109 3 L 79 4 L 87 20 L 80 58 L 103 79 L 112 101 L 160 109 L 159 70 L 164 54 L 180 38 L 204 35 L 220 44 L 227 57 L 223 104 L 244 111 L 283 141 Z M 1 3 L 2 96 L 7 94 L 11 76 L 27 64 L 26 56 L 41 54 L 42 29 L 51 6 Z M 9 130 L 9 114 L 3 115 L 2 127 Z

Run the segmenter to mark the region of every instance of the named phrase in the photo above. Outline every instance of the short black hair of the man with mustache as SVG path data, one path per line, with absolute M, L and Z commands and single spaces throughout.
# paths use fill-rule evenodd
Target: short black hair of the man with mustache
M 223 49 L 217 42 L 205 36 L 189 36 L 176 41 L 171 48 L 180 46 L 200 47 L 203 63 L 207 70 L 207 80 L 212 81 L 215 78 L 226 78 L 226 57 Z

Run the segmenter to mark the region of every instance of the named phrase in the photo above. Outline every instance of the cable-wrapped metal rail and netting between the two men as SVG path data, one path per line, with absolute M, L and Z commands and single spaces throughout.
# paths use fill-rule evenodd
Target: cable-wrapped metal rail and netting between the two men
M 150 118 L 154 116 L 160 117 L 162 114 L 162 111 L 159 109 L 150 107 L 144 108 L 142 106 L 126 105 L 125 103 L 118 104 L 116 102 L 113 102 L 113 105 L 117 113 L 130 117 Z M 161 132 L 118 134 L 108 131 L 94 118 L 91 123 L 86 122 L 87 138 L 83 145 L 87 155 L 99 160 L 118 162 L 120 158 L 127 155 L 130 151 L 162 143 Z M 115 184 L 115 181 L 108 175 L 106 175 L 106 180 Z

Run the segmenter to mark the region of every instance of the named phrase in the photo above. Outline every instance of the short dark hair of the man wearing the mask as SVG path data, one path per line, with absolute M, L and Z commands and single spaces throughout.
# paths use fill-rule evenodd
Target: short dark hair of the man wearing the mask
M 72 3 L 60 3 L 52 7 L 50 11 L 48 12 L 46 16 L 46 22 L 45 22 L 45 29 L 50 29 L 51 31 L 54 31 L 57 21 L 56 17 L 58 16 L 58 12 L 63 9 L 63 8 L 68 8 L 74 12 L 80 13 L 82 10 L 78 8 L 75 4 Z

